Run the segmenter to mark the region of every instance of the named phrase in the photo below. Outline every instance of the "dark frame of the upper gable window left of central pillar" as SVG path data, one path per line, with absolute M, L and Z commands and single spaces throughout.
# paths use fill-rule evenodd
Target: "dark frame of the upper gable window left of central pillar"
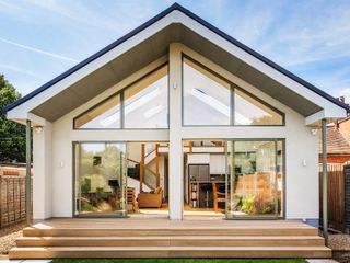
M 158 70 L 160 70 L 163 67 L 167 67 L 167 116 L 166 116 L 166 126 L 165 128 L 125 128 L 125 91 L 129 88 L 131 88 L 133 84 L 136 84 L 139 81 L 142 81 L 143 79 L 148 78 L 150 75 L 156 72 Z M 86 113 L 89 113 L 90 111 L 93 111 L 94 108 L 98 107 L 100 105 L 104 104 L 106 101 L 113 99 L 114 96 L 119 96 L 120 100 L 120 121 L 119 121 L 119 128 L 79 128 L 75 126 L 75 119 L 80 118 L 81 116 L 85 115 Z M 84 112 L 82 112 L 81 114 L 77 115 L 75 117 L 73 117 L 73 122 L 72 122 L 72 128 L 73 130 L 138 130 L 138 129 L 147 129 L 147 130 L 166 130 L 170 128 L 170 64 L 168 61 L 161 64 L 160 66 L 155 67 L 154 69 L 152 69 L 151 71 L 149 71 L 148 73 L 143 75 L 142 77 L 138 78 L 137 80 L 132 81 L 131 83 L 127 84 L 126 87 L 121 88 L 119 91 L 108 95 L 107 98 L 103 99 L 102 101 L 100 101 L 98 103 L 94 104 L 93 106 L 89 107 L 88 110 L 85 110 Z

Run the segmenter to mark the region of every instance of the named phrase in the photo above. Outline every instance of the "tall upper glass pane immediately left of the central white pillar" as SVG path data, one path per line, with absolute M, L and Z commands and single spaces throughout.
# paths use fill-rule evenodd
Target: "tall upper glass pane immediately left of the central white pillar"
M 126 128 L 167 128 L 167 66 L 125 91 Z

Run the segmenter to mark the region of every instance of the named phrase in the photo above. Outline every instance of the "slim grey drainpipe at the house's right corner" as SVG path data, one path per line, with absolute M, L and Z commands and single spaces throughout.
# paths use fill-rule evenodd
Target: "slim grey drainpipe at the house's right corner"
M 322 171 L 323 171 L 323 229 L 325 243 L 328 245 L 328 187 L 327 187 L 327 122 L 325 118 L 322 119 Z

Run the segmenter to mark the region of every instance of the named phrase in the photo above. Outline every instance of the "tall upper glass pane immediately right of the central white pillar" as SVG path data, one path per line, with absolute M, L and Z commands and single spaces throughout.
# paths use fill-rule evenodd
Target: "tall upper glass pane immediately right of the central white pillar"
M 229 82 L 184 58 L 184 125 L 230 125 Z

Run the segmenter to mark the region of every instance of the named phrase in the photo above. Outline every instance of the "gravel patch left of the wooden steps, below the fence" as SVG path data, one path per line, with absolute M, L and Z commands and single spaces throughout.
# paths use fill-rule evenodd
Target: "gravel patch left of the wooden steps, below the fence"
M 15 224 L 0 230 L 0 254 L 8 254 L 15 247 L 15 239 L 22 237 L 25 222 Z

